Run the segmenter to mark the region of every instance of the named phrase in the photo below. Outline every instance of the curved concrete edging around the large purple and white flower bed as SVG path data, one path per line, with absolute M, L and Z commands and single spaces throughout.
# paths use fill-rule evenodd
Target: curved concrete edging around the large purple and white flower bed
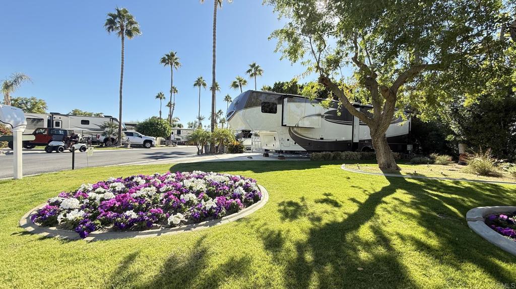
M 223 216 L 221 219 L 204 221 L 197 224 L 184 225 L 174 228 L 161 228 L 161 229 L 151 229 L 151 230 L 142 230 L 142 231 L 94 231 L 91 232 L 88 237 L 84 238 L 85 241 L 99 241 L 99 240 L 112 240 L 112 239 L 123 239 L 123 238 L 147 238 L 147 237 L 157 237 L 169 234 L 179 234 L 187 231 L 198 231 L 202 229 L 206 229 L 209 227 L 213 227 L 216 225 L 221 225 L 229 222 L 236 221 L 240 218 L 244 218 L 245 216 L 255 212 L 256 210 L 265 206 L 267 201 L 269 201 L 269 193 L 267 189 L 265 189 L 262 185 L 258 185 L 260 191 L 262 192 L 262 200 L 252 204 L 251 206 L 231 215 Z M 20 227 L 25 230 L 34 233 L 40 234 L 43 237 L 55 237 L 61 240 L 80 240 L 79 234 L 71 230 L 58 229 L 56 227 L 41 227 L 37 224 L 34 224 L 30 221 L 30 215 L 33 214 L 36 210 L 44 207 L 46 203 L 37 206 L 36 208 L 28 211 L 26 214 L 22 216 L 20 219 Z

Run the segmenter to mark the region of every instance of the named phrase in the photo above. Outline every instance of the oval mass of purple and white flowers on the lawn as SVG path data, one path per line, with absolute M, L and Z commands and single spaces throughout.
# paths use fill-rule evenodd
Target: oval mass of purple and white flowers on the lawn
M 74 229 L 145 230 L 219 219 L 262 198 L 256 180 L 213 172 L 177 172 L 109 178 L 50 198 L 30 220 Z

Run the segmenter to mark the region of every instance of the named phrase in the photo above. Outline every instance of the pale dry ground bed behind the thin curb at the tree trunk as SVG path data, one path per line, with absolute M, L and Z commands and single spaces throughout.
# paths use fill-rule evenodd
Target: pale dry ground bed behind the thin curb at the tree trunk
M 430 176 L 430 177 L 450 177 L 450 178 L 465 178 L 465 179 L 478 179 L 478 180 L 491 180 L 498 182 L 515 182 L 516 180 L 511 177 L 508 172 L 499 170 L 498 176 L 482 176 L 474 173 L 469 173 L 466 170 L 466 166 L 460 165 L 412 165 L 412 164 L 398 164 L 401 168 L 397 170 L 380 170 L 376 164 L 360 164 L 357 166 L 356 163 L 346 165 L 347 168 L 353 170 L 360 170 L 371 173 L 389 173 L 389 174 L 401 174 L 401 175 L 413 175 L 413 176 Z M 359 169 L 360 168 L 360 169 Z

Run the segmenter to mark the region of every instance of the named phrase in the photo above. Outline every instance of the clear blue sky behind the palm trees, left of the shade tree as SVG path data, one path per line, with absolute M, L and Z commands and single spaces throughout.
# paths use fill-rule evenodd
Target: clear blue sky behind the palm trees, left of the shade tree
M 42 98 L 51 112 L 77 108 L 118 117 L 120 39 L 103 27 L 106 13 L 117 6 L 127 8 L 143 32 L 125 42 L 124 121 L 157 115 L 159 101 L 154 96 L 163 91 L 168 97 L 170 87 L 170 69 L 159 59 L 170 50 L 178 53 L 182 63 L 174 71 L 179 90 L 174 116 L 183 124 L 194 120 L 198 91 L 193 81 L 203 76 L 209 87 L 212 79 L 213 4 L 209 0 L 202 5 L 197 0 L 4 2 L 0 79 L 14 72 L 33 79 L 13 97 Z M 276 40 L 267 40 L 280 27 L 272 7 L 263 6 L 261 0 L 224 3 L 217 17 L 218 109 L 225 111 L 224 95 L 239 94 L 229 85 L 237 75 L 247 77 L 245 71 L 253 61 L 264 69 L 258 88 L 288 81 L 304 71 L 300 64 L 280 61 L 280 54 L 274 52 Z M 248 79 L 246 88 L 253 86 Z M 201 93 L 201 114 L 207 117 L 211 93 Z

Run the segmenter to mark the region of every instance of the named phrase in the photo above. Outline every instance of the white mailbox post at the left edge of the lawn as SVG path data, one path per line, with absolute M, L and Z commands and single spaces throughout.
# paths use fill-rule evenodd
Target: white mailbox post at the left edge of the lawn
M 23 111 L 18 107 L 0 104 L 0 123 L 10 127 L 12 131 L 12 144 L 14 149 L 14 178 L 22 178 L 22 135 L 27 126 L 27 120 Z

